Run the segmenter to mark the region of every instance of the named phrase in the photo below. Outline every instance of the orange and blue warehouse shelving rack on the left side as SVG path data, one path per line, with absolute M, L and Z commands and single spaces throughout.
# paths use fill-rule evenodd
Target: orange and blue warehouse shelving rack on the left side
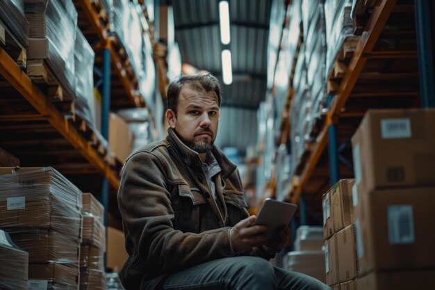
M 101 135 L 107 140 L 110 109 L 146 108 L 147 104 L 131 72 L 127 72 L 128 61 L 113 45 L 101 3 L 74 0 L 74 5 L 79 12 L 79 27 L 96 53 Z M 81 127 L 84 122 L 74 114 L 70 103 L 53 99 L 36 85 L 9 52 L 0 47 L 0 147 L 21 159 L 24 166 L 53 166 L 79 187 L 89 185 L 105 207 L 106 225 L 108 212 L 115 213 L 113 220 L 119 222 L 116 192 L 122 164 L 114 161 L 89 127 Z M 153 113 L 149 113 L 154 124 Z

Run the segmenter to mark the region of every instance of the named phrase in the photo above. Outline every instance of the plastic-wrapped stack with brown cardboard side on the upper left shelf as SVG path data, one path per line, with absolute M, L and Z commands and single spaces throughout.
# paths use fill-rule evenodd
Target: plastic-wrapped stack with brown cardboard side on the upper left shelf
M 63 90 L 74 99 L 77 11 L 72 0 L 24 0 L 24 3 L 30 27 L 28 60 L 43 59 Z

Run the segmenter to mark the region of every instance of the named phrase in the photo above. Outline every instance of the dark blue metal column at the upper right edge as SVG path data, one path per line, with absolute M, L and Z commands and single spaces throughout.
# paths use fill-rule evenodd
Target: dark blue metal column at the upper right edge
M 422 108 L 435 107 L 434 79 L 434 3 L 432 0 L 414 1 L 416 37 Z

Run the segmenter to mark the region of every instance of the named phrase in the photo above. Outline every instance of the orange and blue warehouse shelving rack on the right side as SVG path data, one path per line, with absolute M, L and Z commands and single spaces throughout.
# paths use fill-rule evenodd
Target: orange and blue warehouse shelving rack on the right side
M 352 163 L 348 161 L 352 159 L 350 138 L 368 108 L 434 106 L 429 2 L 379 0 L 372 9 L 343 79 L 336 92 L 328 96 L 329 111 L 315 142 L 298 165 L 302 173 L 288 187 L 286 199 L 299 203 L 301 224 L 306 223 L 308 198 L 315 201 L 316 208 L 310 210 L 321 212 L 321 202 L 318 202 L 321 193 L 340 177 L 353 176 Z M 414 10 L 416 26 L 401 27 L 400 23 L 406 19 L 404 15 L 413 19 Z M 288 97 L 291 96 L 289 92 Z M 282 120 L 286 121 L 285 115 Z M 281 128 L 288 129 L 288 126 L 281 124 Z M 317 187 L 318 192 L 310 193 L 306 188 L 315 178 L 322 179 L 322 186 Z

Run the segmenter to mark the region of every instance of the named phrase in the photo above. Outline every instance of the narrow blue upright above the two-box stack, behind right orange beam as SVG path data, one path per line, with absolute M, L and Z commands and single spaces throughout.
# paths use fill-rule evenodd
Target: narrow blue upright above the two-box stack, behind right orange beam
M 328 107 L 331 108 L 334 95 L 328 95 Z M 334 185 L 340 179 L 340 165 L 338 163 L 337 124 L 330 122 L 328 126 L 328 154 L 329 154 L 329 184 Z

